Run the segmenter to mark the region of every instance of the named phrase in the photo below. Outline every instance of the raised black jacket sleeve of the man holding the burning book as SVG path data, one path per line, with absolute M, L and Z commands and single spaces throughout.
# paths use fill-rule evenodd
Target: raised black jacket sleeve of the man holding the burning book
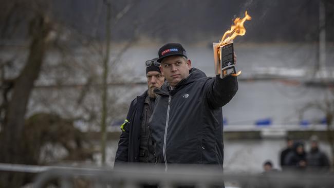
M 226 105 L 234 97 L 238 90 L 237 78 L 227 76 L 223 79 L 219 75 L 213 81 L 208 82 L 206 88 L 207 100 L 211 108 L 219 108 Z

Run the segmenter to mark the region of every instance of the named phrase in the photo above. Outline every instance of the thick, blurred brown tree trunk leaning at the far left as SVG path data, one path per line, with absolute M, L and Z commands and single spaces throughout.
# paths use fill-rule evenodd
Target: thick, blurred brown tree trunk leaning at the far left
M 38 79 L 40 74 L 50 24 L 46 21 L 44 15 L 39 14 L 32 19 L 29 31 L 32 41 L 29 47 L 28 59 L 14 82 L 6 110 L 4 128 L 0 138 L 0 162 L 22 163 L 22 158 L 24 157 L 21 152 L 21 145 L 24 142 L 22 137 L 25 114 L 34 81 Z M 13 176 L 6 174 L 1 177 L 0 187 L 4 182 L 7 183 L 7 186 L 4 185 L 4 187 L 18 187 L 22 183 L 22 178 L 18 178 L 17 174 Z

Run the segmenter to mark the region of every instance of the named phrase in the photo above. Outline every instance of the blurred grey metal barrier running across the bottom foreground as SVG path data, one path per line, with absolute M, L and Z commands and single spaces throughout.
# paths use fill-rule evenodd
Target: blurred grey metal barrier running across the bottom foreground
M 33 187 L 125 187 L 151 185 L 170 187 L 334 187 L 331 173 L 272 172 L 267 174 L 223 173 L 216 166 L 171 165 L 164 166 L 118 165 L 114 169 L 73 167 L 29 167 L 29 172 L 39 173 Z M 34 170 L 31 171 L 34 167 Z M 27 168 L 28 169 L 28 168 Z M 21 171 L 20 171 L 21 170 Z M 4 168 L 0 171 L 23 172 L 23 168 Z

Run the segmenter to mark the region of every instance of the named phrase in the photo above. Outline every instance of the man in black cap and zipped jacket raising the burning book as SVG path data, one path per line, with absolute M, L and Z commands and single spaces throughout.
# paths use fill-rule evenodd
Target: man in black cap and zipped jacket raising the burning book
M 150 120 L 157 162 L 223 163 L 222 109 L 238 90 L 237 78 L 205 73 L 191 68 L 191 61 L 178 43 L 159 49 L 160 70 L 166 81 Z

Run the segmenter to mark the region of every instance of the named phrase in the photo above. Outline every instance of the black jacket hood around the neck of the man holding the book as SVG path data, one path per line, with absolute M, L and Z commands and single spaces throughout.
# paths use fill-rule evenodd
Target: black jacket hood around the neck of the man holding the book
M 154 91 L 158 94 L 158 95 L 173 95 L 173 93 L 175 93 L 179 88 L 181 88 L 184 85 L 188 85 L 194 81 L 196 81 L 197 79 L 200 78 L 206 78 L 207 75 L 199 70 L 198 68 L 191 68 L 189 71 L 189 77 L 182 79 L 176 86 L 174 90 L 170 89 L 170 84 L 166 81 L 162 86 L 161 89 L 155 89 Z

